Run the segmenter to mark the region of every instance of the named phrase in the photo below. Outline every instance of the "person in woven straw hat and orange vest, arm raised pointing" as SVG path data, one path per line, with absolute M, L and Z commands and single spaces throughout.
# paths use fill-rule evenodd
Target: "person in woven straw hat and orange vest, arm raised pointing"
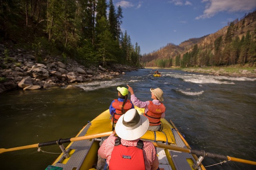
M 128 91 L 131 93 L 131 101 L 134 106 L 145 108 L 144 116 L 149 119 L 149 131 L 162 131 L 161 118 L 165 117 L 165 106 L 163 101 L 163 91 L 160 88 L 151 88 L 151 98 L 152 101 L 142 102 L 135 95 L 133 88 L 128 84 Z

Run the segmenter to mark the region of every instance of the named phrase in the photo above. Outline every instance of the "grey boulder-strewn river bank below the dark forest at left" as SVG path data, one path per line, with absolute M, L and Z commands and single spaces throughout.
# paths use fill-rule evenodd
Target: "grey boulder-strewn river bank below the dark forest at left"
M 0 93 L 15 89 L 79 88 L 72 84 L 112 79 L 137 67 L 113 64 L 109 68 L 85 66 L 72 59 L 62 62 L 60 56 L 45 55 L 36 62 L 33 51 L 7 48 L 0 44 Z

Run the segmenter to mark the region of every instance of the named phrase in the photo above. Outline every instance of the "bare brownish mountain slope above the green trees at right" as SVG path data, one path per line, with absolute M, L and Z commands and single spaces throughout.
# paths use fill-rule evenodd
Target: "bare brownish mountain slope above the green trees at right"
M 234 26 L 233 26 L 234 25 Z M 232 28 L 231 28 L 232 26 Z M 227 32 L 229 29 L 232 29 L 231 35 L 232 39 L 234 39 L 236 36 L 238 36 L 240 39 L 243 38 L 243 36 L 246 36 L 247 32 L 250 31 L 255 35 L 256 32 L 256 11 L 253 11 L 252 13 L 248 13 L 240 20 L 236 19 L 229 23 L 229 25 L 223 27 L 222 29 L 205 36 L 202 36 L 200 38 L 190 38 L 186 41 L 183 41 L 179 45 L 174 45 L 172 43 L 168 43 L 165 47 L 161 47 L 158 50 L 155 50 L 149 54 L 142 55 L 141 64 L 143 66 L 158 66 L 157 60 L 172 60 L 172 66 L 174 64 L 174 60 L 176 59 L 176 56 L 180 55 L 181 58 L 183 58 L 183 55 L 187 52 L 192 52 L 194 45 L 198 45 L 198 49 L 201 51 L 210 50 L 214 54 L 214 43 L 216 39 L 220 38 L 226 38 Z M 255 39 L 255 37 L 254 37 Z M 224 41 L 226 41 L 224 39 Z M 224 44 L 225 45 L 225 42 Z M 222 50 L 224 46 L 221 47 Z

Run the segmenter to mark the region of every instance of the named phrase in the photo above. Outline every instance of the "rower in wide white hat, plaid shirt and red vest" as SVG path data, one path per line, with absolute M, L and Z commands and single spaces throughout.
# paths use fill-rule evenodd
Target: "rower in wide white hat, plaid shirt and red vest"
M 156 170 L 159 166 L 151 141 L 140 138 L 147 132 L 149 120 L 130 109 L 116 122 L 113 133 L 102 143 L 98 155 L 113 170 Z M 116 137 L 115 135 L 117 134 Z M 97 167 L 98 170 L 98 167 Z

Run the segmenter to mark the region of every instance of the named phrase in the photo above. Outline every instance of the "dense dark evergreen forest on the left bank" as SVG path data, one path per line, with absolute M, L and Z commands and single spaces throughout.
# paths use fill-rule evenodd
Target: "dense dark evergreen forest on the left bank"
M 122 8 L 113 0 L 2 0 L 0 43 L 84 65 L 140 65 L 140 46 L 122 32 Z M 108 11 L 108 12 L 107 12 Z

